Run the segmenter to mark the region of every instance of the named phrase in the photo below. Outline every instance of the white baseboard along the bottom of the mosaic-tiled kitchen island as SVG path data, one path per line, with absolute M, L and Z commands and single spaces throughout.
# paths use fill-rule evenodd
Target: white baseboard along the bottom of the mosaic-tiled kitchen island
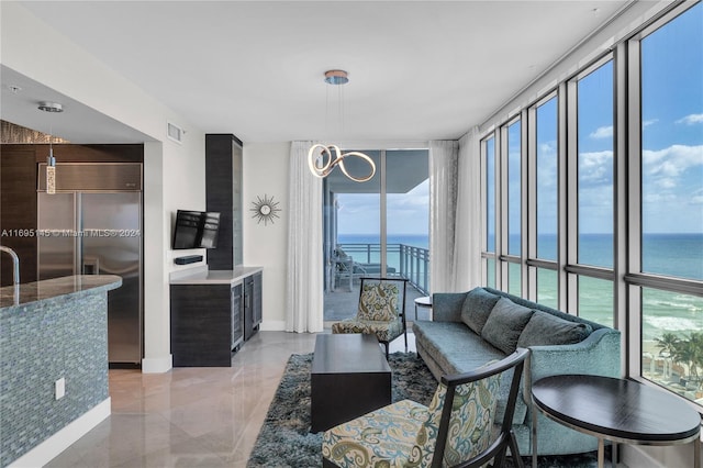
M 76 441 L 110 416 L 110 398 L 12 461 L 11 468 L 35 468 L 48 464 Z

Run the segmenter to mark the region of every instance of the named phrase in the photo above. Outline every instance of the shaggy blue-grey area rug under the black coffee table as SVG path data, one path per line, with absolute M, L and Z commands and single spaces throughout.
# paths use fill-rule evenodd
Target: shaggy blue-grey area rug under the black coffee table
M 437 381 L 414 353 L 393 353 L 393 401 L 410 399 L 428 405 Z M 310 433 L 310 369 L 312 354 L 292 355 L 276 390 L 261 431 L 247 463 L 255 467 L 312 468 L 322 466 L 322 433 Z M 532 459 L 523 458 L 525 466 Z M 606 464 L 607 465 L 607 464 Z M 509 467 L 512 467 L 509 464 Z M 539 468 L 596 467 L 595 454 L 539 457 Z

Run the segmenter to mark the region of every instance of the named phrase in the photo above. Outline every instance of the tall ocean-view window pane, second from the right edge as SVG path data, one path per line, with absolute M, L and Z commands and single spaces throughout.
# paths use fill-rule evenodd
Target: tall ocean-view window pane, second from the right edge
M 613 60 L 604 57 L 569 81 L 567 254 L 569 296 L 579 316 L 614 324 Z M 576 146 L 573 146 L 576 145 Z M 573 292 L 572 292 L 573 291 Z

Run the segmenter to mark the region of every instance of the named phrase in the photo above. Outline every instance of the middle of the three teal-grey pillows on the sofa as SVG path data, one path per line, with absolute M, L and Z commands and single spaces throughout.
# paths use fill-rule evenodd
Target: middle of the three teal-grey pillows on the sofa
M 517 305 L 510 299 L 501 298 L 491 311 L 481 337 L 505 354 L 514 353 L 517 339 L 533 314 L 532 309 Z

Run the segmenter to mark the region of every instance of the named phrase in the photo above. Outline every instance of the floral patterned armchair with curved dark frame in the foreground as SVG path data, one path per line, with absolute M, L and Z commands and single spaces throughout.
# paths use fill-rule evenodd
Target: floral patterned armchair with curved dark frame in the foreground
M 429 406 L 403 400 L 326 431 L 323 467 L 523 467 L 512 430 L 528 349 L 471 372 L 444 376 Z M 514 368 L 501 431 L 493 431 L 503 372 Z

